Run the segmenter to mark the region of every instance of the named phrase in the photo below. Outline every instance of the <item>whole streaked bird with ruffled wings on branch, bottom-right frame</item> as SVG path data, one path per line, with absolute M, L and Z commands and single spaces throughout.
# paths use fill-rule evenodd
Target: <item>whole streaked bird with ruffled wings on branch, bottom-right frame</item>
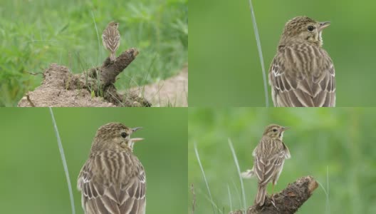
M 291 158 L 285 143 L 282 142 L 283 132 L 287 127 L 271 124 L 266 127 L 263 137 L 258 143 L 252 156 L 254 156 L 254 167 L 251 170 L 241 173 L 243 178 L 251 178 L 255 174 L 258 178 L 258 190 L 256 204 L 262 206 L 266 197 L 266 186 L 269 182 L 276 185 L 279 175 L 283 169 L 285 159 Z

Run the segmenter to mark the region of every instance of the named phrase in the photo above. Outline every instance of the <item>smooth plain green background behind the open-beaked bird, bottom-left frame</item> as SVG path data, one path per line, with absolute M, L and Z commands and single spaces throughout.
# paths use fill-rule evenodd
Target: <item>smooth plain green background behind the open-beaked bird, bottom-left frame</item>
M 135 154 L 147 174 L 147 212 L 187 209 L 187 108 L 53 108 L 83 213 L 77 176 L 97 129 L 109 122 L 142 126 Z M 1 213 L 71 213 L 71 204 L 48 108 L 0 109 Z

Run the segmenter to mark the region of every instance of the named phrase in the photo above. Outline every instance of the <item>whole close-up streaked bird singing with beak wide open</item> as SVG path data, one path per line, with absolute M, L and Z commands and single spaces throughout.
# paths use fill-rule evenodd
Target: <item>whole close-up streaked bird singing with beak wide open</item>
M 145 170 L 133 154 L 133 144 L 142 138 L 130 138 L 138 129 L 121 123 L 98 129 L 78 175 L 85 214 L 145 214 Z

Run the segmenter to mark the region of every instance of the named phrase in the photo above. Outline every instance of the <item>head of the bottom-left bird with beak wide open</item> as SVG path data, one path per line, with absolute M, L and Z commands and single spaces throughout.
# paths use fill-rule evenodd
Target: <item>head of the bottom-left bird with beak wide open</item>
M 122 123 L 108 123 L 101 126 L 94 138 L 92 150 L 128 149 L 133 151 L 133 145 L 143 138 L 130 138 L 132 133 L 141 127 L 129 128 Z

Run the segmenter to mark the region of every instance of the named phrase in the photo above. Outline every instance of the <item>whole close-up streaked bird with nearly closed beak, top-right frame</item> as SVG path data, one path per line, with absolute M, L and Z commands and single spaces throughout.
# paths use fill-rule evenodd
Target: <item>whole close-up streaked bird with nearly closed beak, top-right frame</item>
M 305 16 L 286 23 L 269 69 L 274 106 L 335 106 L 335 69 L 321 36 L 329 25 Z

